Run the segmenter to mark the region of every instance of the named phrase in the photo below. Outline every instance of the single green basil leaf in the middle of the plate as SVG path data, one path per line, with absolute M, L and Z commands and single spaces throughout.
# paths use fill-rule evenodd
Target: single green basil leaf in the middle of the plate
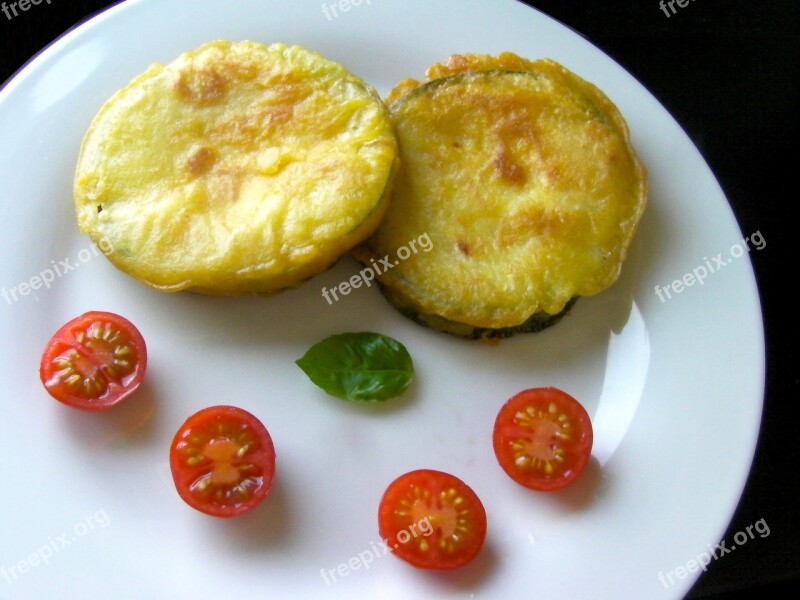
M 295 363 L 330 395 L 357 402 L 399 396 L 414 374 L 411 355 L 403 344 L 369 331 L 325 338 Z

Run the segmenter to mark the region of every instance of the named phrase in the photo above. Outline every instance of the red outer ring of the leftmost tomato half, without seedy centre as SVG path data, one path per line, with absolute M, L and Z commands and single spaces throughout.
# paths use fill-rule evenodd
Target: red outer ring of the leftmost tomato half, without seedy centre
M 92 323 L 111 323 L 124 333 L 128 343 L 136 352 L 134 371 L 119 383 L 109 383 L 106 392 L 97 398 L 86 398 L 70 393 L 57 379 L 53 371 L 53 360 L 74 345 L 77 332 Z M 88 311 L 62 325 L 50 338 L 39 362 L 39 379 L 47 393 L 71 408 L 84 411 L 108 410 L 130 397 L 141 385 L 147 371 L 147 344 L 139 329 L 125 317 L 106 311 Z

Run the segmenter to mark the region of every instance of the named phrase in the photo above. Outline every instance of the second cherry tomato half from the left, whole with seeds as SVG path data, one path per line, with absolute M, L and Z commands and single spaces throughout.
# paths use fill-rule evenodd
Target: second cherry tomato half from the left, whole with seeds
M 214 517 L 255 508 L 275 477 L 275 448 L 264 425 L 235 406 L 195 413 L 175 434 L 170 469 L 181 498 Z

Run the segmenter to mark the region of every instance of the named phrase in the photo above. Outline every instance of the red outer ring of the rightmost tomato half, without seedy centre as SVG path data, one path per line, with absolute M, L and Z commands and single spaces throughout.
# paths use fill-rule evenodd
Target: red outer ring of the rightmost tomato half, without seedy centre
M 520 428 L 512 424 L 513 417 L 528 406 L 541 408 L 551 402 L 568 415 L 578 433 L 571 443 L 565 445 L 567 471 L 554 476 L 531 471 L 525 473 L 514 464 L 509 451 L 509 438 L 514 437 L 515 430 L 520 432 Z M 574 397 L 555 387 L 530 388 L 509 398 L 497 413 L 492 432 L 495 456 L 502 469 L 519 485 L 538 492 L 555 492 L 575 483 L 589 464 L 593 442 L 594 431 L 586 409 Z

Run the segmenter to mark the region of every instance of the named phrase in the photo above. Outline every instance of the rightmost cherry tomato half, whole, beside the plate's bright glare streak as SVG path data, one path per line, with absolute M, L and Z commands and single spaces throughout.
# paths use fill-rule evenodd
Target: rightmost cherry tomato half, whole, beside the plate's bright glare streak
M 523 390 L 494 424 L 497 461 L 508 475 L 542 492 L 562 489 L 583 472 L 592 453 L 592 423 L 575 398 L 557 388 Z

